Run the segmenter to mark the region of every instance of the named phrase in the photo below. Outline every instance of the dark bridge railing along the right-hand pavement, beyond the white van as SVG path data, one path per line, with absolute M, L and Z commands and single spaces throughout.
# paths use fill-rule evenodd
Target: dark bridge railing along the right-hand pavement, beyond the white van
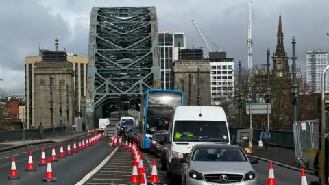
M 230 128 L 230 136 L 237 134 L 237 128 Z M 254 129 L 253 130 L 253 137 L 252 142 L 258 143 L 261 129 Z M 293 131 L 285 131 L 285 130 L 270 130 L 271 132 L 271 140 L 269 140 L 269 145 L 276 145 L 278 147 L 287 147 L 287 148 L 294 148 L 294 138 L 293 138 Z

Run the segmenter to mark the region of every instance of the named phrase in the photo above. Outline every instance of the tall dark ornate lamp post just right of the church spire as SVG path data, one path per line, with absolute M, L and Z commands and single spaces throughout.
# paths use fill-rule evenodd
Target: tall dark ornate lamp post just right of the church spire
M 298 105 L 298 91 L 299 86 L 297 84 L 296 79 L 296 40 L 295 36 L 293 36 L 293 40 L 291 42 L 293 44 L 293 84 L 291 86 L 291 103 L 293 104 L 293 121 L 297 121 L 297 105 Z

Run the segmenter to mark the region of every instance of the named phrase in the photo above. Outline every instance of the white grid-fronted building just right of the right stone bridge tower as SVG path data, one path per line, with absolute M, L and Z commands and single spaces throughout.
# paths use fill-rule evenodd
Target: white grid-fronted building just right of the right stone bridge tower
M 221 101 L 234 94 L 234 58 L 227 58 L 226 52 L 209 52 L 211 104 L 221 105 Z

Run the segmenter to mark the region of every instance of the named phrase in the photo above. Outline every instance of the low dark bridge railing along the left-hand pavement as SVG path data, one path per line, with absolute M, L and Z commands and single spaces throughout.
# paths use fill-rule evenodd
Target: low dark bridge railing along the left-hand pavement
M 23 140 L 23 138 L 25 138 L 25 140 L 45 138 L 52 136 L 53 130 L 55 136 L 60 136 L 66 134 L 66 129 L 66 127 L 55 127 L 54 129 L 45 128 L 42 134 L 40 134 L 39 129 L 0 130 L 0 142 Z

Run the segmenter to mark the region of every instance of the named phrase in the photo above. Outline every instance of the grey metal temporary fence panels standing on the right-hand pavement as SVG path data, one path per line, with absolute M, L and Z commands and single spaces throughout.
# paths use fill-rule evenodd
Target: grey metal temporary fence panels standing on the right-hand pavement
M 307 165 L 310 157 L 308 151 L 319 148 L 319 121 L 295 121 L 293 123 L 293 136 L 296 162 Z

